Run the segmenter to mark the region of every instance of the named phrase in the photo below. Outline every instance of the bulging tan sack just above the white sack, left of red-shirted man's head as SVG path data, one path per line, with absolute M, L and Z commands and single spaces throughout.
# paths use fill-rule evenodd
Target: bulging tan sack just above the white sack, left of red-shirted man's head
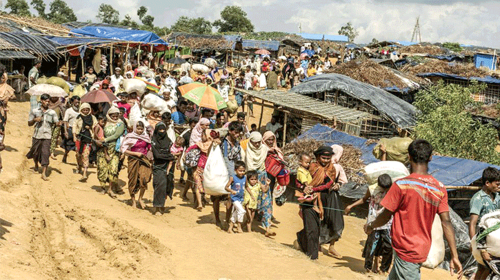
M 403 164 L 408 164 L 410 159 L 408 158 L 408 146 L 412 142 L 412 138 L 405 137 L 393 137 L 393 138 L 382 138 L 377 145 L 373 148 L 373 155 L 377 159 L 382 158 L 382 152 L 380 151 L 380 145 L 386 146 L 386 160 L 395 160 L 397 162 L 402 162 Z

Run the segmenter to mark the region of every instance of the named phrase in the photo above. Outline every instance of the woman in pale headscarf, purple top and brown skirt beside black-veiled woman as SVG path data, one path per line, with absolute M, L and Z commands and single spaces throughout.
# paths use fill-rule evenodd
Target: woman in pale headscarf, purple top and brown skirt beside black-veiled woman
M 146 132 L 146 125 L 140 120 L 135 123 L 132 133 L 128 133 L 121 142 L 120 152 L 128 155 L 128 192 L 132 207 L 136 207 L 135 195 L 139 192 L 139 206 L 146 209 L 142 197 L 151 180 L 151 138 Z

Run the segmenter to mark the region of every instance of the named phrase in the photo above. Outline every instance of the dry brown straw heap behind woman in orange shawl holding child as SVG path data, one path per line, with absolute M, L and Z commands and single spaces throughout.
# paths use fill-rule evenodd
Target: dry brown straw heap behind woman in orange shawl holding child
M 319 147 L 323 146 L 323 144 L 323 141 L 317 141 L 314 139 L 298 140 L 288 143 L 283 148 L 283 153 L 290 169 L 297 170 L 299 168 L 299 155 L 301 153 L 308 153 L 314 162 L 314 155 L 312 153 Z M 365 164 L 361 161 L 361 151 L 351 145 L 341 146 L 343 147 L 343 153 L 339 164 L 341 164 L 344 171 L 346 171 L 348 181 L 356 182 L 357 184 L 366 184 L 366 180 L 363 178 L 362 174 Z

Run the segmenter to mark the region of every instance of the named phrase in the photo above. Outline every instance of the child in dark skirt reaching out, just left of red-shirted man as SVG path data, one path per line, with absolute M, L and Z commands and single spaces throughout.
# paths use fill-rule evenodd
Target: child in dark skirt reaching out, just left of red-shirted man
M 353 204 L 346 207 L 345 213 L 348 215 L 351 209 L 355 206 L 361 205 L 366 201 L 370 200 L 368 206 L 368 223 L 375 220 L 377 215 L 383 211 L 383 207 L 380 205 L 383 197 L 386 196 L 387 192 L 392 185 L 392 180 L 388 174 L 380 175 L 377 180 L 377 185 L 372 185 L 368 187 L 365 195 L 361 199 L 357 200 Z M 363 257 L 365 258 L 365 269 L 366 272 L 374 272 L 386 275 L 389 271 L 390 264 L 392 263 L 392 246 L 390 240 L 390 227 L 392 226 L 392 217 L 389 222 L 379 228 L 375 228 L 368 238 L 366 239 L 365 248 L 363 249 Z M 382 261 L 379 266 L 379 257 L 382 257 Z

